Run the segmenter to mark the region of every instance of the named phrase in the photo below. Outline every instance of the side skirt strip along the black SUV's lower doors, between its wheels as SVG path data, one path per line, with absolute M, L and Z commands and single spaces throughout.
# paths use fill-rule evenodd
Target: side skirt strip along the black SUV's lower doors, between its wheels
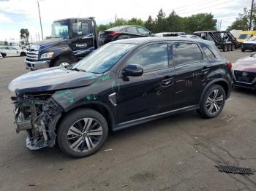
M 160 119 L 162 117 L 167 117 L 167 116 L 170 116 L 170 115 L 173 115 L 173 114 L 178 114 L 178 113 L 181 113 L 181 112 L 187 112 L 187 111 L 195 110 L 195 109 L 199 109 L 199 108 L 200 108 L 199 105 L 193 105 L 193 106 L 183 107 L 181 109 L 174 109 L 174 110 L 171 110 L 169 112 L 163 112 L 163 113 L 154 114 L 154 115 L 151 115 L 151 116 L 148 116 L 148 117 L 143 117 L 143 118 L 136 119 L 136 120 L 121 122 L 121 123 L 118 123 L 116 125 L 113 125 L 112 129 L 113 129 L 113 131 L 121 130 L 121 129 L 124 129 L 124 128 L 129 128 L 129 127 L 134 126 L 134 125 L 139 125 L 139 124 L 144 123 L 144 122 L 157 120 L 157 119 Z

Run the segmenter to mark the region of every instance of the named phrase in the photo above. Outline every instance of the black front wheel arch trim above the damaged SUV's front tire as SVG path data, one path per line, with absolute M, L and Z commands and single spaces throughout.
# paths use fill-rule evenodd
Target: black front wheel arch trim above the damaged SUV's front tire
M 61 122 L 61 120 L 63 120 L 64 117 L 67 116 L 67 114 L 69 114 L 70 112 L 73 112 L 77 109 L 94 109 L 95 111 L 102 114 L 102 116 L 108 122 L 109 130 L 112 130 L 113 117 L 111 117 L 110 112 L 108 112 L 108 109 L 106 109 L 104 106 L 101 106 L 99 104 L 86 104 L 86 105 L 83 105 L 83 106 L 75 107 L 74 109 L 71 109 L 68 112 L 62 112 L 61 118 L 59 119 L 59 121 L 56 124 L 56 130 L 59 128 L 59 123 Z

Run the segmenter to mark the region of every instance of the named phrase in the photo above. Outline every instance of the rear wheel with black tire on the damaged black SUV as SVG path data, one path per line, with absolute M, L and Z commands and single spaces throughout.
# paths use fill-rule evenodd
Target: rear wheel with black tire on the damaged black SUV
M 217 91 L 214 92 L 215 90 Z M 222 98 L 222 101 L 215 101 L 215 99 L 211 97 L 211 95 L 214 95 L 215 93 L 219 93 L 217 94 L 216 98 L 219 98 L 218 100 L 221 100 Z M 208 98 L 211 98 L 213 102 L 209 101 Z M 202 117 L 205 117 L 205 118 L 217 117 L 219 113 L 222 112 L 222 109 L 225 106 L 225 100 L 226 100 L 226 94 L 223 87 L 220 85 L 212 85 L 211 87 L 208 88 L 205 95 L 203 95 L 203 99 L 200 103 L 200 109 L 198 109 L 197 112 Z M 215 104 L 213 103 L 217 104 L 217 106 L 215 106 Z M 219 110 L 217 110 L 217 108 Z M 211 112 L 209 112 L 209 110 L 211 110 Z

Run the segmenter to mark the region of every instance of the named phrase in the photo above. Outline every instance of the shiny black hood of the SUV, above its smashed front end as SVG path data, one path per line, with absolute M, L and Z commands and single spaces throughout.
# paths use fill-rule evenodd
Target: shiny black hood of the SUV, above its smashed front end
M 54 67 L 23 74 L 13 79 L 8 88 L 15 93 L 36 93 L 83 87 L 93 84 L 97 79 L 96 74 Z

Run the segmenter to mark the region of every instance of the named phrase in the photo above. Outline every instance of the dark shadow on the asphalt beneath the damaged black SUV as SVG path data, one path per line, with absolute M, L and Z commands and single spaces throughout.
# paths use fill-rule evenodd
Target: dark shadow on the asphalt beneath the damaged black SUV
M 105 149 L 108 149 L 110 145 L 115 144 L 126 144 L 131 138 L 134 137 L 145 137 L 147 135 L 152 135 L 157 131 L 165 131 L 170 130 L 171 128 L 176 128 L 173 125 L 176 122 L 182 122 L 184 120 L 198 120 L 202 119 L 199 114 L 195 111 L 184 112 L 181 114 L 170 115 L 168 117 L 163 117 L 158 120 L 154 120 L 151 122 L 146 122 L 141 125 L 135 125 L 129 128 L 124 128 L 122 130 L 110 131 L 108 140 L 102 149 L 99 152 L 96 152 L 94 155 L 91 155 L 86 158 L 94 158 L 99 155 L 100 152 L 104 152 Z M 135 138 L 136 139 L 136 138 Z M 139 140 L 138 140 L 139 141 Z M 29 150 L 29 153 L 32 157 L 40 159 L 40 160 L 58 160 L 59 162 L 74 160 L 74 158 L 64 155 L 56 144 L 53 148 L 43 148 L 38 150 Z M 85 159 L 85 158 L 84 158 Z M 79 160 L 79 159 L 78 159 Z M 81 160 L 81 159 L 80 159 Z

